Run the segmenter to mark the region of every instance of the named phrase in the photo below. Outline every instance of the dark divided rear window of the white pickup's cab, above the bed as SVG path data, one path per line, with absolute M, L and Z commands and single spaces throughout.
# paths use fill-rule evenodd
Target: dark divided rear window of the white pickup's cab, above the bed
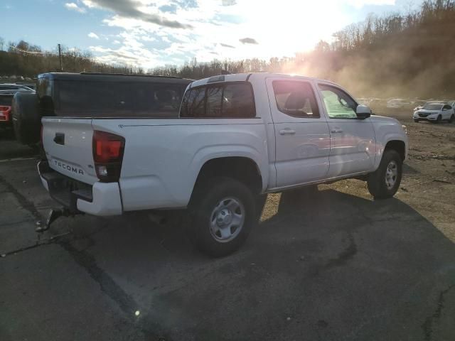
M 255 102 L 249 83 L 225 83 L 188 90 L 183 98 L 181 117 L 255 117 Z

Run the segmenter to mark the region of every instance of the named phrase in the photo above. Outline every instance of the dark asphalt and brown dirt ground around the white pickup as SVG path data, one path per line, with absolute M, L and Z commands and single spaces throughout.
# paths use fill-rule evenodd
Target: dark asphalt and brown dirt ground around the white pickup
M 455 340 L 455 124 L 407 125 L 396 197 L 343 180 L 269 195 L 208 259 L 183 212 L 61 218 L 34 153 L 0 140 L 0 340 Z

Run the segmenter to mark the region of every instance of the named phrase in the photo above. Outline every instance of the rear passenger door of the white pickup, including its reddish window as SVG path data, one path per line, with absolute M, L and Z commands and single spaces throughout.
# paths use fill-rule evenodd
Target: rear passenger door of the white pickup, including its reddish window
M 269 77 L 276 139 L 277 188 L 321 180 L 328 172 L 330 134 L 308 80 Z

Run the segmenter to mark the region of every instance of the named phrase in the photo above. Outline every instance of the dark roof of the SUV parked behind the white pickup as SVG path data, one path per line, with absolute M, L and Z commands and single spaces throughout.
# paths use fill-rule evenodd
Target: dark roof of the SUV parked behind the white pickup
M 48 78 L 49 80 L 90 80 L 95 82 L 172 82 L 188 84 L 192 80 L 173 76 L 157 75 L 127 75 L 123 73 L 101 73 L 101 72 L 47 72 L 38 75 L 39 78 Z

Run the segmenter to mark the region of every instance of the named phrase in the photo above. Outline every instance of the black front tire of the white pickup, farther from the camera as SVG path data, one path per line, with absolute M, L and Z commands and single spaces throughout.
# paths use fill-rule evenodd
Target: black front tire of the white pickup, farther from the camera
M 393 186 L 389 187 L 387 185 L 387 168 L 389 165 L 395 163 L 397 174 L 395 176 Z M 367 185 L 368 191 L 370 194 L 375 197 L 375 199 L 387 199 L 393 197 L 397 193 L 398 188 L 400 188 L 401 178 L 403 171 L 403 161 L 400 157 L 400 154 L 393 149 L 386 149 L 382 154 L 382 159 L 379 165 L 379 168 L 368 175 Z

